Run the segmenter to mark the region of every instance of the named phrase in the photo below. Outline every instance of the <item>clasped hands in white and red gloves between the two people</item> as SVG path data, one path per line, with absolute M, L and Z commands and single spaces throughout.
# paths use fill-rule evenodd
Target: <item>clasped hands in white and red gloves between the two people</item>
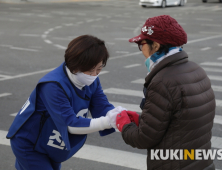
M 118 129 L 120 132 L 122 132 L 124 125 L 131 122 L 134 122 L 137 126 L 139 126 L 139 114 L 126 110 L 121 106 L 110 110 L 106 116 L 109 118 L 110 126 Z

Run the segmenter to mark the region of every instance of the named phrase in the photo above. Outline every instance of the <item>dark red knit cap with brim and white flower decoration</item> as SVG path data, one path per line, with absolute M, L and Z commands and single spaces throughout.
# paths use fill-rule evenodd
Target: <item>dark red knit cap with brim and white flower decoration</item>
M 162 45 L 182 46 L 187 43 L 187 34 L 178 22 L 169 15 L 148 18 L 141 29 L 141 34 L 129 42 L 139 43 L 149 39 Z

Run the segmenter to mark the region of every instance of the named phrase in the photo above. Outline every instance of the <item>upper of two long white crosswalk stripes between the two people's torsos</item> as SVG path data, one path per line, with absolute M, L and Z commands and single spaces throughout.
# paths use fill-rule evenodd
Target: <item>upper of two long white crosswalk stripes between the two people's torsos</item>
M 142 90 L 130 90 L 130 89 L 118 89 L 118 88 L 109 88 L 105 89 L 104 93 L 107 94 L 118 94 L 118 95 L 126 95 L 126 96 L 136 96 L 136 97 L 144 97 Z

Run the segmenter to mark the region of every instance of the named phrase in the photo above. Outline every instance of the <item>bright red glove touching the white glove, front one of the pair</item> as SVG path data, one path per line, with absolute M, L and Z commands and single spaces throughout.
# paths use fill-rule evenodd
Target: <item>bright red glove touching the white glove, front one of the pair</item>
M 117 114 L 116 116 L 116 126 L 120 132 L 123 130 L 123 126 L 125 124 L 131 123 L 130 118 L 127 114 L 126 110 L 123 110 L 121 113 Z

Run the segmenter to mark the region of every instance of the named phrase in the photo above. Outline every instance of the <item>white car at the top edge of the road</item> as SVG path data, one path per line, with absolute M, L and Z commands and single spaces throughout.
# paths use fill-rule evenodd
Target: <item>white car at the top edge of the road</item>
M 204 0 L 203 0 L 204 1 Z M 184 6 L 187 0 L 140 0 L 139 5 L 142 7 L 159 6 L 165 8 L 166 6 Z

